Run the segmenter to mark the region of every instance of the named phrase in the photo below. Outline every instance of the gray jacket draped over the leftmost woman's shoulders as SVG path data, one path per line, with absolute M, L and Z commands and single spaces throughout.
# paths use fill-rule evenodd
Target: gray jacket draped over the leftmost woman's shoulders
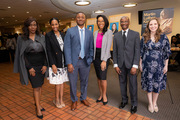
M 39 43 L 41 43 L 41 45 L 44 48 L 46 58 L 48 58 L 47 53 L 46 53 L 46 48 L 45 48 L 45 37 L 43 35 L 41 36 L 36 35 L 35 39 Z M 14 60 L 14 73 L 20 74 L 20 81 L 21 81 L 21 84 L 23 85 L 28 85 L 28 73 L 25 66 L 24 51 L 26 50 L 26 47 L 28 46 L 29 42 L 30 42 L 29 40 L 23 40 L 21 36 L 18 37 L 15 60 Z M 47 75 L 48 75 L 48 69 L 46 70 L 46 73 L 45 73 L 45 76 Z

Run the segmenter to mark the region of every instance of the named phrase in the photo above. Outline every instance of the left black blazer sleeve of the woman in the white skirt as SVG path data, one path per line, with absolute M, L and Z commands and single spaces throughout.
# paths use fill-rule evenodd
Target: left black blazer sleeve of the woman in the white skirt
M 52 66 L 53 64 L 55 64 L 55 62 L 54 62 L 54 57 L 52 55 L 52 46 L 48 34 L 45 35 L 45 41 L 46 41 L 46 51 L 48 55 L 49 65 Z

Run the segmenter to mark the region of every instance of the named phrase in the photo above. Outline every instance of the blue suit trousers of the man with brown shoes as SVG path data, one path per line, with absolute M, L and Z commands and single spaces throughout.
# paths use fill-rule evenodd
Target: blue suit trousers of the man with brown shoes
M 90 72 L 90 65 L 89 66 L 87 65 L 85 59 L 79 59 L 77 65 L 74 66 L 74 71 L 72 73 L 68 72 L 69 81 L 70 81 L 70 95 L 72 102 L 78 101 L 78 97 L 76 95 L 78 73 L 80 78 L 80 90 L 81 90 L 80 100 L 82 101 L 86 99 L 89 72 Z

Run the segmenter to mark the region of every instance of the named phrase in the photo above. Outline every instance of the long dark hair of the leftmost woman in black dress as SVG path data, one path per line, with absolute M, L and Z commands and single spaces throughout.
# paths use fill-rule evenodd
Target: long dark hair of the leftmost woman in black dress
M 36 34 L 39 35 L 40 34 L 40 29 L 39 29 L 39 24 L 36 21 L 36 18 L 33 17 L 28 17 L 25 21 L 24 21 L 24 27 L 22 28 L 23 30 L 23 35 L 22 38 L 23 39 L 29 39 L 29 29 L 28 27 L 30 26 L 31 22 L 35 21 L 37 24 L 37 29 L 36 29 Z

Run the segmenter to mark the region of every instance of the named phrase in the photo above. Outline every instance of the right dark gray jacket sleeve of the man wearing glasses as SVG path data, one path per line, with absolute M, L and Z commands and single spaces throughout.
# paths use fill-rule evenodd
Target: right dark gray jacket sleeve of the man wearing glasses
M 139 59 L 140 59 L 140 37 L 139 33 L 136 33 L 135 38 L 135 53 L 134 53 L 134 61 L 133 65 L 139 65 Z

